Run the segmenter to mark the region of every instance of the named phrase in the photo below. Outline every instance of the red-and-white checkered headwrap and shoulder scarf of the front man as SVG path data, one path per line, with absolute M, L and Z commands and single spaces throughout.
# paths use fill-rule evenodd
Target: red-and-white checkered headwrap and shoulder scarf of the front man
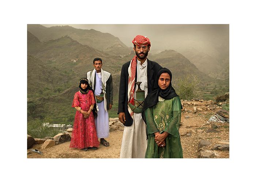
M 137 35 L 132 40 L 132 43 L 136 46 L 147 46 L 150 44 L 150 40 L 142 35 Z M 136 74 L 136 66 L 137 66 L 137 56 L 134 56 L 131 60 L 130 66 L 128 68 L 128 103 L 134 105 L 134 90 L 135 90 L 135 74 Z M 133 116 L 133 112 L 131 108 L 128 106 L 128 111 L 131 116 Z

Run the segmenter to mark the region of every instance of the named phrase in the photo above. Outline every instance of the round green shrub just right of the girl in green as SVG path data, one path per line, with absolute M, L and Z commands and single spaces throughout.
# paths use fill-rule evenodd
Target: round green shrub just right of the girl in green
M 177 94 L 180 99 L 193 99 L 197 97 L 197 90 L 200 81 L 196 75 L 188 75 L 177 81 Z

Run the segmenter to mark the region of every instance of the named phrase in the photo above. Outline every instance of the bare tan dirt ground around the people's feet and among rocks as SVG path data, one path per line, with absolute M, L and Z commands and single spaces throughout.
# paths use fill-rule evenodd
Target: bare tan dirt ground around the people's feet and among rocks
M 221 108 L 215 105 L 214 107 L 217 107 L 215 110 L 197 111 L 193 113 L 193 103 L 196 103 L 196 107 L 202 108 L 206 106 L 206 102 L 189 101 L 186 103 L 190 103 L 190 105 L 183 107 L 192 112 L 182 111 L 181 115 L 182 124 L 180 135 L 184 158 L 197 158 L 198 145 L 202 139 L 212 143 L 207 147 L 207 150 L 212 150 L 213 146 L 219 141 L 229 140 L 229 123 L 214 123 L 218 126 L 216 129 L 217 132 L 206 132 L 208 128 L 211 128 L 211 124 L 207 124 L 207 120 Z M 185 116 L 189 116 L 189 118 L 185 118 Z M 190 136 L 187 135 L 189 130 L 193 130 Z M 39 155 L 30 152 L 27 154 L 27 158 L 119 158 L 122 137 L 123 127 L 110 132 L 109 138 L 106 138 L 110 146 L 105 147 L 100 144 L 98 150 L 89 149 L 89 151 L 71 149 L 69 148 L 70 142 L 61 143 L 48 149 L 41 149 L 41 145 L 34 145 L 31 149 L 37 149 L 43 154 Z M 29 149 L 27 152 L 29 152 Z M 218 150 L 216 154 L 216 158 L 229 158 L 229 151 Z

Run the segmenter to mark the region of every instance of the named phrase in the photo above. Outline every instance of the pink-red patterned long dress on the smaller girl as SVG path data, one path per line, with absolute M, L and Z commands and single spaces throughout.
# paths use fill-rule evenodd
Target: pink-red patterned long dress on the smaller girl
M 93 91 L 89 90 L 87 94 L 79 91 L 75 93 L 72 107 L 81 107 L 83 111 L 88 111 L 92 104 L 95 104 Z M 82 113 L 76 111 L 69 147 L 76 149 L 99 147 L 93 112 L 90 113 L 89 118 L 84 118 Z

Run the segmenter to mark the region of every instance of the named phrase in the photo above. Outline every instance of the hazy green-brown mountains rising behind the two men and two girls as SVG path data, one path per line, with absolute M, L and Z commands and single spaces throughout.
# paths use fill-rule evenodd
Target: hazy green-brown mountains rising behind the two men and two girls
M 41 118 L 51 116 L 65 119 L 66 115 L 72 115 L 74 110 L 71 103 L 78 91 L 79 79 L 94 69 L 93 59 L 100 57 L 103 60 L 102 69 L 112 74 L 116 104 L 121 67 L 134 55 L 131 48 L 109 33 L 69 26 L 46 28 L 42 25 L 27 25 L 28 103 L 37 105 L 38 112 L 42 112 Z M 178 78 L 190 74 L 197 75 L 202 84 L 212 80 L 174 50 L 149 54 L 148 59 L 169 68 L 174 84 Z

